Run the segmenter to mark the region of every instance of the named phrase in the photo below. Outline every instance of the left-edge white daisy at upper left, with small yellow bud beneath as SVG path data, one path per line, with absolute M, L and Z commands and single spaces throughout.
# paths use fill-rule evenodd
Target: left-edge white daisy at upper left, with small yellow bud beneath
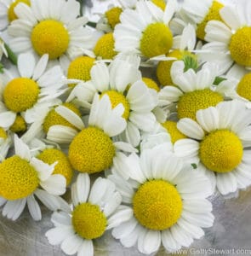
M 17 72 L 5 70 L 0 90 L 0 126 L 26 131 L 43 108 L 53 106 L 65 91 L 66 78 L 60 66 L 46 70 L 48 55 L 39 61 L 31 53 L 20 54 Z

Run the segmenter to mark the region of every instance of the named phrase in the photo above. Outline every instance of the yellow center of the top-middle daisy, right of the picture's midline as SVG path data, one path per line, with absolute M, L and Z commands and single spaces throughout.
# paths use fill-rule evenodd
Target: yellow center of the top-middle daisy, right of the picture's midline
M 163 23 L 148 25 L 140 40 L 140 50 L 148 58 L 167 54 L 172 45 L 172 32 Z

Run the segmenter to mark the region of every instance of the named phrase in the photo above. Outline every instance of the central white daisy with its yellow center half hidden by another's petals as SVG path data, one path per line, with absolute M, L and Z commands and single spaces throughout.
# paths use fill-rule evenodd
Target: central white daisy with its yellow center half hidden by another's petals
M 140 59 L 132 59 L 117 58 L 109 67 L 103 62 L 96 63 L 91 69 L 91 80 L 78 84 L 68 100 L 77 97 L 80 102 L 92 102 L 98 92 L 109 96 L 112 108 L 122 103 L 127 124 L 123 137 L 135 147 L 140 143 L 140 130 L 151 131 L 156 122 L 151 111 L 157 107 L 157 92 L 147 88 L 141 80 Z

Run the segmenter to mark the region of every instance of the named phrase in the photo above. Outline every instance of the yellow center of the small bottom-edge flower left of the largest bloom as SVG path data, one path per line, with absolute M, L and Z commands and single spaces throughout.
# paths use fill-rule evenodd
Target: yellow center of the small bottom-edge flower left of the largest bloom
M 82 203 L 72 212 L 71 222 L 77 235 L 83 239 L 98 238 L 106 231 L 107 219 L 100 207 L 90 203 Z

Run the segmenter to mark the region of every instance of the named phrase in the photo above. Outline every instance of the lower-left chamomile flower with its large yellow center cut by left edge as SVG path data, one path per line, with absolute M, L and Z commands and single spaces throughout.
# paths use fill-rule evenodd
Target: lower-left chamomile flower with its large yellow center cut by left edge
M 67 204 L 59 195 L 66 192 L 66 178 L 52 174 L 53 165 L 31 156 L 31 150 L 14 135 L 14 155 L 0 164 L 0 206 L 3 216 L 15 220 L 27 207 L 35 220 L 42 218 L 35 196 L 48 209 L 68 210 Z

